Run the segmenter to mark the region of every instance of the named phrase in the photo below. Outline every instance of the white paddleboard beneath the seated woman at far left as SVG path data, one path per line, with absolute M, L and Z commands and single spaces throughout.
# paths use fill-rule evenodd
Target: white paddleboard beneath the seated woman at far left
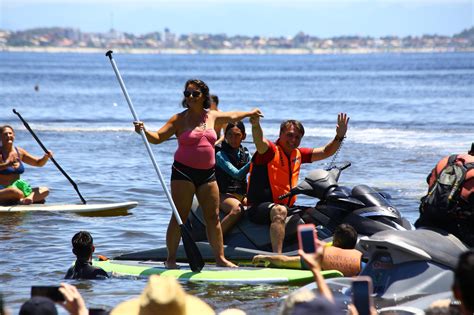
M 31 205 L 11 205 L 0 206 L 2 213 L 21 212 L 72 212 L 81 215 L 119 215 L 126 214 L 128 210 L 138 205 L 136 201 L 104 204 L 31 204 Z

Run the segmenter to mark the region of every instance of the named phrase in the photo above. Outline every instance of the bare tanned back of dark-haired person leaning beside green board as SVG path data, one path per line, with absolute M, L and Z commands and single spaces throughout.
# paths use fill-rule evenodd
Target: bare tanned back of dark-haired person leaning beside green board
M 342 249 L 328 246 L 324 248 L 323 270 L 339 270 L 345 277 L 353 277 L 360 273 L 362 253 L 357 249 Z

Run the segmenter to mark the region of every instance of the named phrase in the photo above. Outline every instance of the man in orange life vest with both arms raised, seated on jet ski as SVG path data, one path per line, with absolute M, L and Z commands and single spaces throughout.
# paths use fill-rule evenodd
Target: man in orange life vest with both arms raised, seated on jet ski
M 297 120 L 287 120 L 280 126 L 280 137 L 273 143 L 263 137 L 259 118 L 251 118 L 253 142 L 257 152 L 250 166 L 247 192 L 249 219 L 258 224 L 270 224 L 272 250 L 281 253 L 285 238 L 285 219 L 296 196 L 278 197 L 297 185 L 302 163 L 312 163 L 333 155 L 347 132 L 349 117 L 337 116 L 336 136 L 320 148 L 299 148 L 304 127 Z

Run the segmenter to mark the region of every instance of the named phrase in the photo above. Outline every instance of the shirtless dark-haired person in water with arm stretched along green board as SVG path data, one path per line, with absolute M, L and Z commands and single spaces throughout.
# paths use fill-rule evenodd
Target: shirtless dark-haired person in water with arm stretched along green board
M 362 253 L 355 249 L 357 232 L 349 224 L 340 224 L 334 230 L 332 244 L 319 242 L 323 247 L 322 270 L 339 270 L 345 277 L 358 275 L 362 270 Z M 270 267 L 302 269 L 299 256 L 256 255 L 254 264 L 270 264 Z

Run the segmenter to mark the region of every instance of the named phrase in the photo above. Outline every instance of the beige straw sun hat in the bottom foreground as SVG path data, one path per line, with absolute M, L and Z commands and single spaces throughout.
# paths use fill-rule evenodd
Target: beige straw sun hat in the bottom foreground
M 173 277 L 152 275 L 138 298 L 117 305 L 110 315 L 215 314 L 201 299 L 184 292 Z

